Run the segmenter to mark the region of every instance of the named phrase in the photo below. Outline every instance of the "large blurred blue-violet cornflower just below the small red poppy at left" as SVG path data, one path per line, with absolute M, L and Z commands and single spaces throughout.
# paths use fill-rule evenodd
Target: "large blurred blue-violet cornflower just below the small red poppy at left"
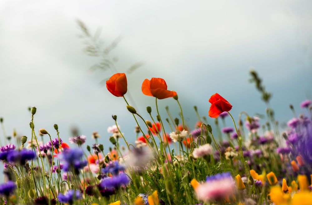
M 64 171 L 75 170 L 76 174 L 79 174 L 79 169 L 85 167 L 88 162 L 82 160 L 83 152 L 80 149 L 66 149 L 61 154 L 61 160 L 63 161 Z

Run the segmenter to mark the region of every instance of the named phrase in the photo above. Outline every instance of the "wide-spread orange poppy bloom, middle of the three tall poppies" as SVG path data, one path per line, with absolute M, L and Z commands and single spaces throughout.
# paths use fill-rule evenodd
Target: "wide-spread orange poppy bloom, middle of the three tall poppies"
M 167 84 L 162 78 L 145 79 L 142 83 L 142 93 L 158 99 L 171 98 L 177 95 L 176 92 L 167 90 Z

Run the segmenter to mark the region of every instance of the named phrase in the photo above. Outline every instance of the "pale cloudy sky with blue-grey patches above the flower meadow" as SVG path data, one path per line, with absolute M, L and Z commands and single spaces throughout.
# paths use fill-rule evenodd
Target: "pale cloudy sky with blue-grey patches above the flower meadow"
M 136 62 L 144 65 L 127 73 L 128 90 L 145 117 L 154 99 L 141 93 L 145 78 L 161 77 L 177 91 L 190 125 L 193 105 L 207 116 L 209 96 L 220 93 L 251 115 L 265 105 L 248 82 L 255 68 L 268 91 L 277 118 L 292 117 L 289 104 L 311 98 L 311 1 L 10 1 L 0 2 L 0 116 L 7 135 L 13 128 L 30 136 L 29 106 L 36 106 L 35 126 L 55 136 L 57 123 L 67 141 L 78 126 L 88 137 L 99 131 L 107 142 L 112 114 L 129 141 L 134 121 L 122 98 L 112 96 L 99 82 L 112 72 L 88 71 L 99 58 L 84 54 L 80 19 L 109 45 L 122 36 L 111 58 L 119 72 Z M 126 95 L 127 98 L 129 96 Z M 160 103 L 161 113 L 173 99 Z M 155 109 L 154 109 L 155 110 Z M 153 111 L 153 114 L 155 112 Z M 228 122 L 230 123 L 230 122 Z M 1 132 L 0 132 L 1 133 Z M 0 134 L 2 137 L 2 134 Z M 90 141 L 91 143 L 91 141 Z

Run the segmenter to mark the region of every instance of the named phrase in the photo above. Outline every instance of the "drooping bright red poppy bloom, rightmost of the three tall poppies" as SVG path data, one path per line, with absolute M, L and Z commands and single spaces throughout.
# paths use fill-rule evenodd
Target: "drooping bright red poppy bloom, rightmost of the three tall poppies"
M 222 112 L 228 112 L 232 109 L 232 105 L 227 102 L 226 99 L 222 98 L 221 95 L 218 93 L 213 94 L 210 99 L 209 103 L 211 103 L 209 109 L 209 116 L 210 117 L 218 117 Z

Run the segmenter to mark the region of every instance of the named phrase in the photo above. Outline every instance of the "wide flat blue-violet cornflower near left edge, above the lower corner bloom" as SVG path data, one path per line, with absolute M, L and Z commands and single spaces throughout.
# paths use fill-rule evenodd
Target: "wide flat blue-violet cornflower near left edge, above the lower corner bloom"
M 7 155 L 8 162 L 14 162 L 16 164 L 24 165 L 26 161 L 32 160 L 36 158 L 36 153 L 32 150 L 15 150 L 9 151 Z

